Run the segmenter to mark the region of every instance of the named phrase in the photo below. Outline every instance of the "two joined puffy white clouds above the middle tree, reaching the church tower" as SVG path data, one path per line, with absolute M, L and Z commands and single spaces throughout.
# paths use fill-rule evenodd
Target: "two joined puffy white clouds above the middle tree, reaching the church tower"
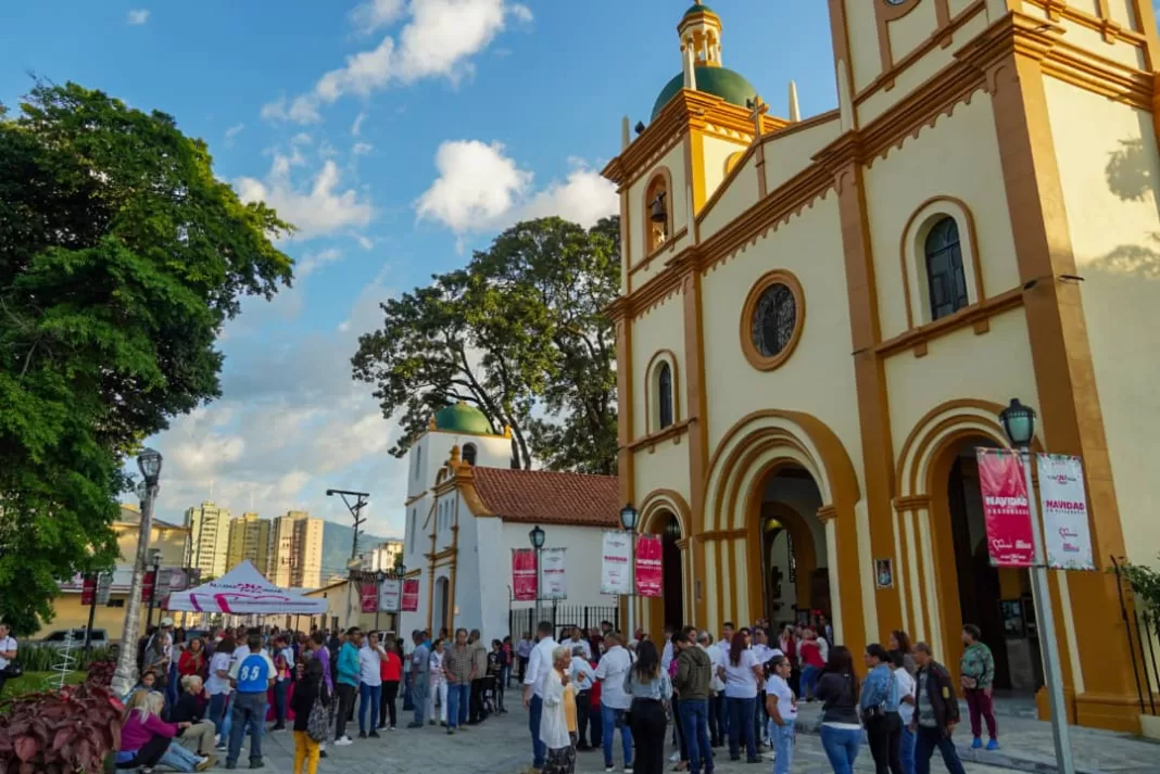
M 440 175 L 415 210 L 420 220 L 438 221 L 459 235 L 548 216 L 587 227 L 618 212 L 616 187 L 582 160 L 570 162 L 565 180 L 535 191 L 532 173 L 521 169 L 503 145 L 448 141 L 435 155 Z

